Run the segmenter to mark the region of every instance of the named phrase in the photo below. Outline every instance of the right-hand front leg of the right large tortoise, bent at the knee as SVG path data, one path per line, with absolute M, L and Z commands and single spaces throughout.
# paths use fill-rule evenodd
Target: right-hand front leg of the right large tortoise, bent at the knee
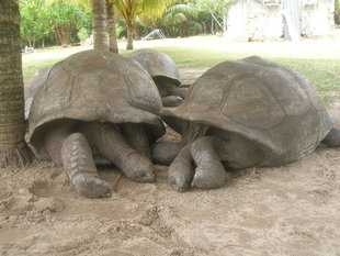
M 192 187 L 215 189 L 225 183 L 226 171 L 215 149 L 219 143 L 222 142 L 213 136 L 203 136 L 192 143 L 191 154 L 197 165 Z

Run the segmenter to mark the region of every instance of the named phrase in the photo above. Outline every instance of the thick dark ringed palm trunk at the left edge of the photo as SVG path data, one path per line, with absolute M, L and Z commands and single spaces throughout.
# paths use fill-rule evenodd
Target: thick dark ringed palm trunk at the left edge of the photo
M 25 166 L 31 153 L 24 141 L 20 13 L 18 0 L 0 1 L 0 167 Z

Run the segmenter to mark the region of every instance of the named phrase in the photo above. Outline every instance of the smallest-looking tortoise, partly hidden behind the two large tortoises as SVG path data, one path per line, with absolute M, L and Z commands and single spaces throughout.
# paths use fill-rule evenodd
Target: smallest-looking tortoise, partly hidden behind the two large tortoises
M 183 102 L 186 91 L 179 88 L 179 70 L 167 54 L 156 49 L 138 49 L 128 57 L 138 62 L 152 77 L 165 107 L 177 107 Z

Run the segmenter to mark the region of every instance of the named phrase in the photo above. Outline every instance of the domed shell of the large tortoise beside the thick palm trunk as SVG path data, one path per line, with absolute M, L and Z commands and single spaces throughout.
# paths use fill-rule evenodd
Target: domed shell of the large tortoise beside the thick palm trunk
M 39 147 L 39 134 L 61 119 L 111 123 L 145 123 L 151 141 L 165 133 L 158 118 L 162 103 L 151 77 L 129 58 L 86 51 L 57 63 L 37 85 L 29 116 L 29 141 Z

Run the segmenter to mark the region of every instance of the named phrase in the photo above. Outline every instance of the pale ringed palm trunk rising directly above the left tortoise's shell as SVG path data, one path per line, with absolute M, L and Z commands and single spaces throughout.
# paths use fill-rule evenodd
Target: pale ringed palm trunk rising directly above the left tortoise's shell
M 105 0 L 91 0 L 93 48 L 107 51 Z

